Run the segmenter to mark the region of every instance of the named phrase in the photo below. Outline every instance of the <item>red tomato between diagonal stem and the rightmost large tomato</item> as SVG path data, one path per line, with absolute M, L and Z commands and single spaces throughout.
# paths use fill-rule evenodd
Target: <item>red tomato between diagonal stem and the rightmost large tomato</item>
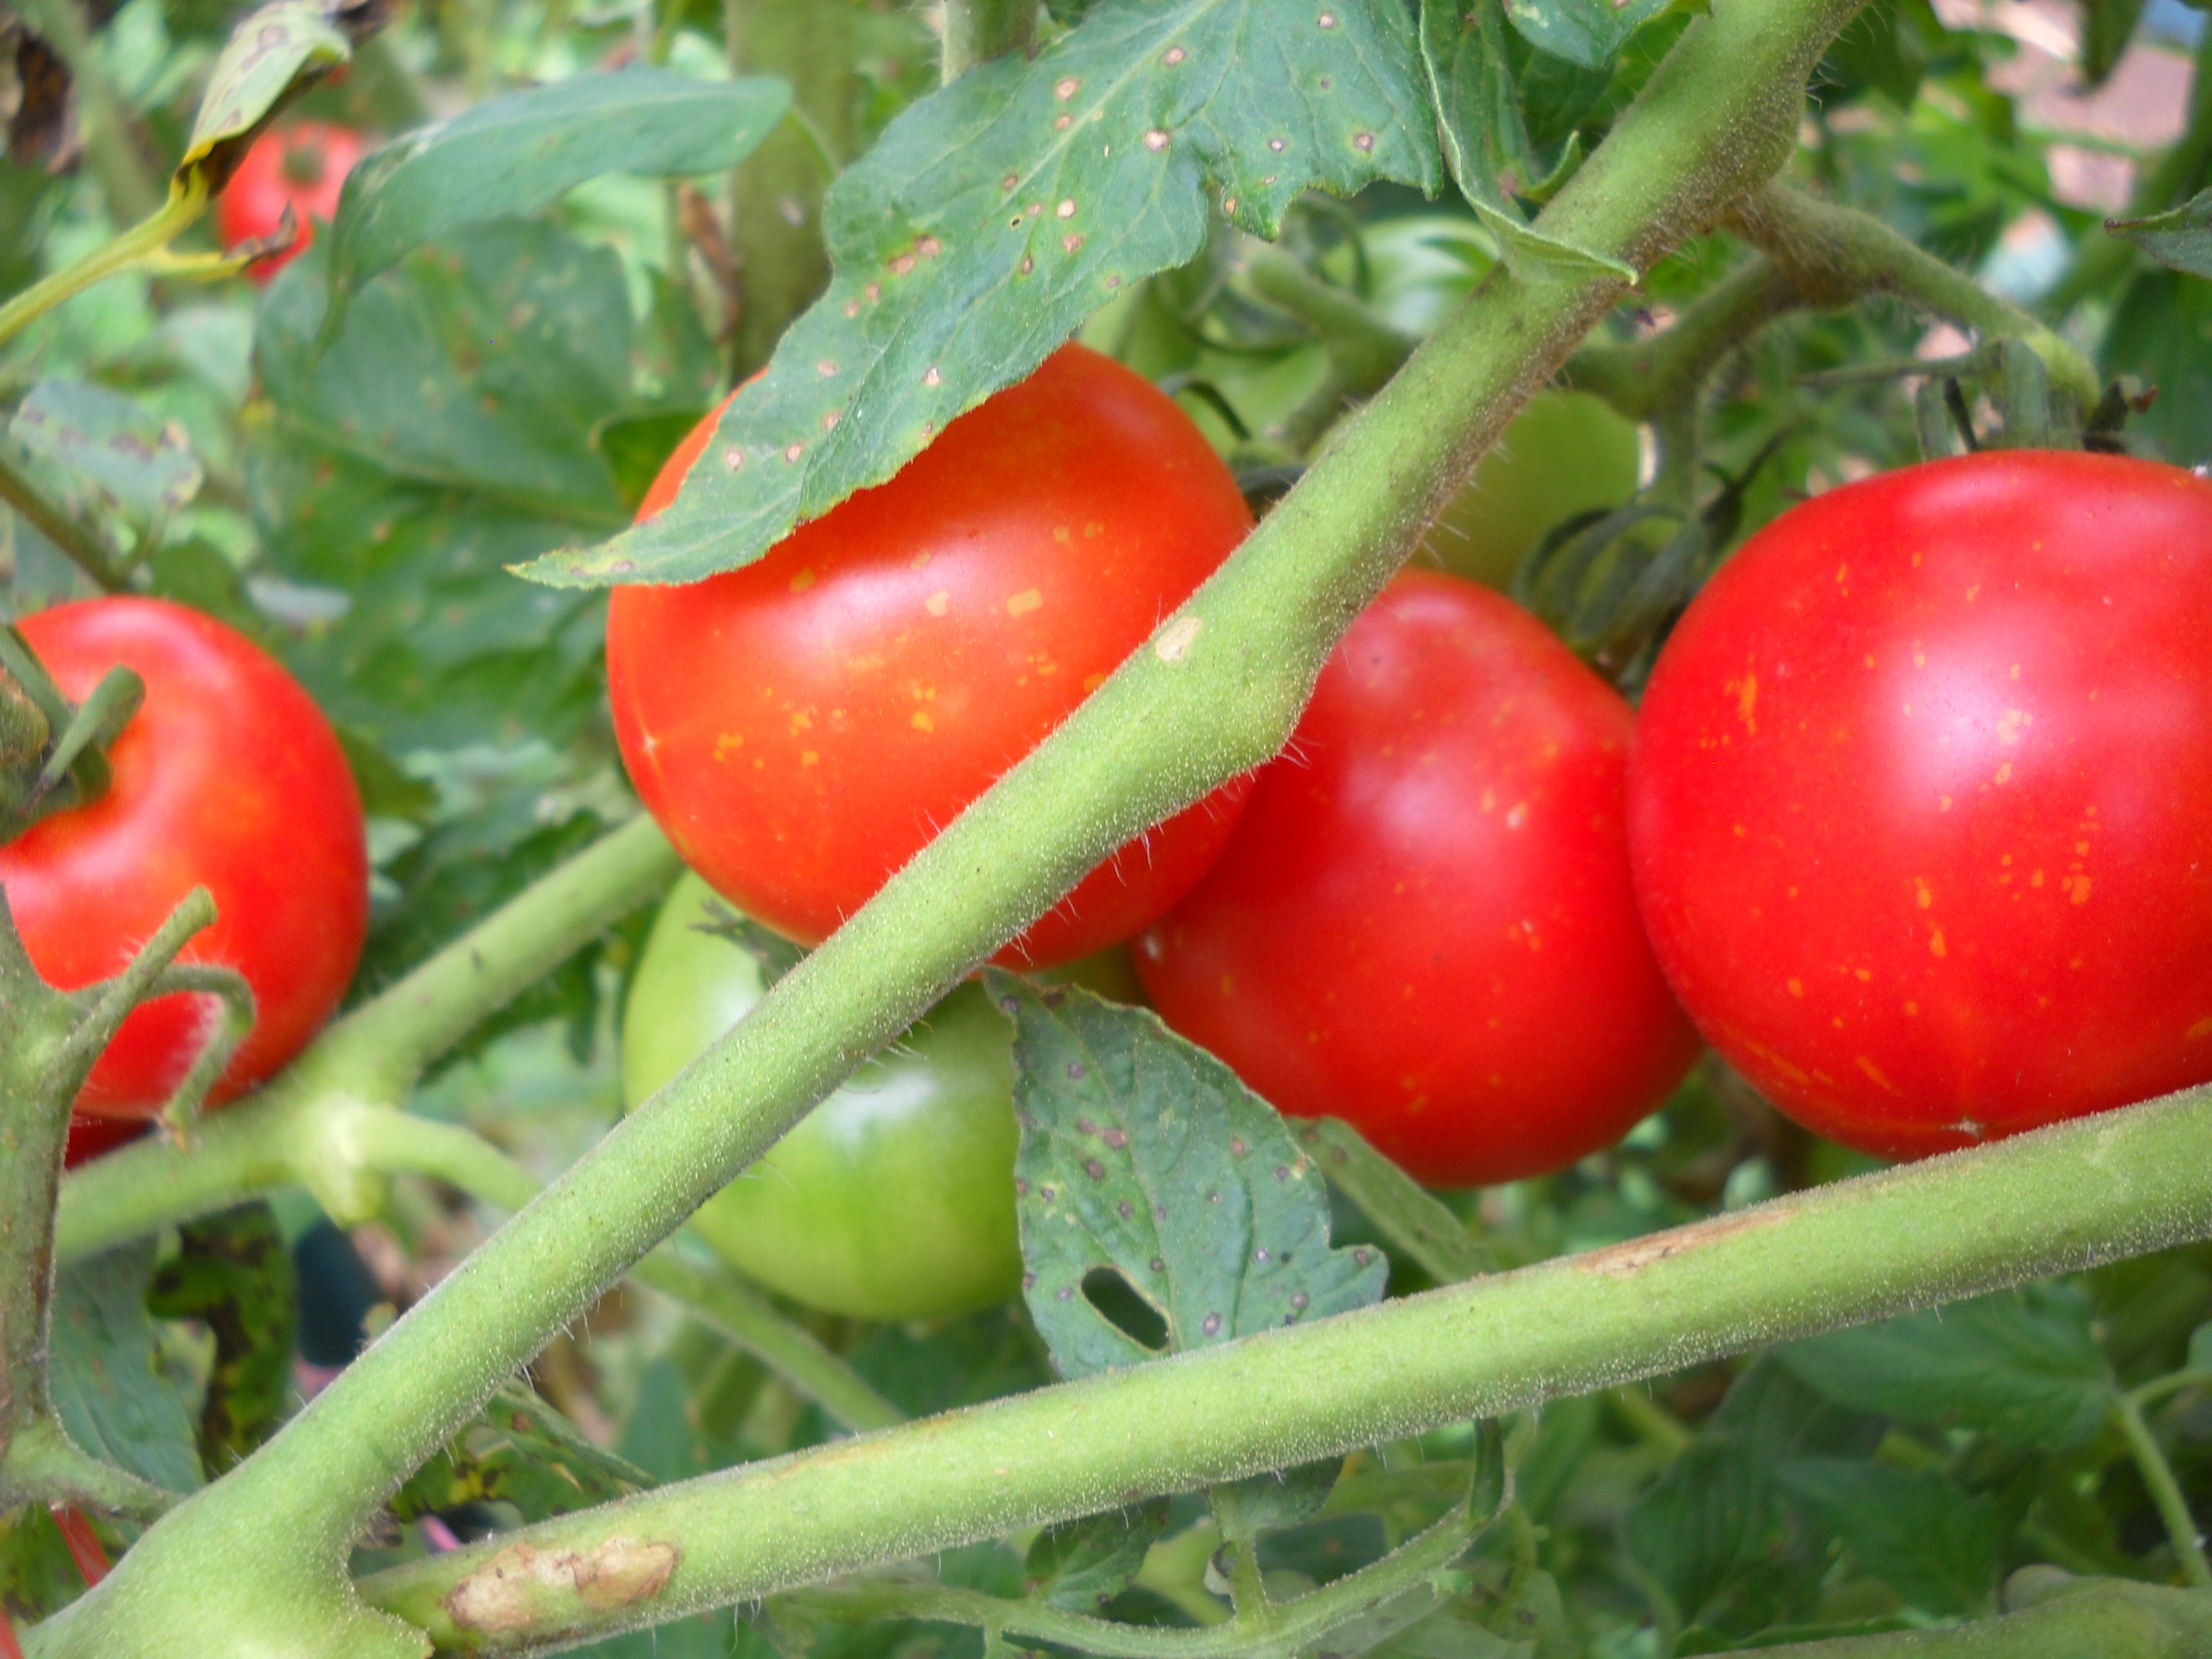
M 1431 1186 L 1608 1146 L 1697 1055 L 1628 885 L 1628 730 L 1535 617 L 1400 575 L 1139 942 L 1146 991 L 1274 1106 Z

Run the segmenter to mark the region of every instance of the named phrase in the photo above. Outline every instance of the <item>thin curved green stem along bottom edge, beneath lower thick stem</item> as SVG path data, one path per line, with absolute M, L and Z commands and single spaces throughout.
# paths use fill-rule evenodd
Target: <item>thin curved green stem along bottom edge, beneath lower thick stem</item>
M 1486 1522 L 1484 1522 L 1486 1524 Z M 1265 1619 L 1239 1613 L 1225 1624 L 1199 1630 L 1175 1630 L 1148 1624 L 1115 1624 L 1082 1613 L 1064 1613 L 1048 1601 L 1009 1601 L 982 1590 L 960 1590 L 938 1584 L 854 1584 L 818 1590 L 794 1590 L 776 1597 L 803 1617 L 858 1624 L 863 1619 L 933 1619 L 969 1624 L 1031 1641 L 1053 1641 L 1077 1652 L 1108 1659 L 1241 1659 L 1241 1655 L 1292 1655 L 1349 1619 L 1378 1608 L 1396 1595 L 1420 1588 L 1449 1568 L 1475 1542 L 1482 1526 L 1473 1524 L 1462 1500 L 1449 1515 L 1418 1537 L 1407 1540 L 1358 1573 L 1327 1588 L 1267 1608 Z

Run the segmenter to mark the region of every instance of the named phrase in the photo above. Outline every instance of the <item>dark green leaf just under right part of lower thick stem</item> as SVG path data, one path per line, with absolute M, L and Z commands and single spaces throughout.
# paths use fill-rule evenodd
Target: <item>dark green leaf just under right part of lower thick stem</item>
M 1829 1332 L 1778 1356 L 1838 1405 L 1927 1429 L 1980 1429 L 2022 1451 L 2079 1447 L 2112 1411 L 2088 1298 L 2068 1285 Z

